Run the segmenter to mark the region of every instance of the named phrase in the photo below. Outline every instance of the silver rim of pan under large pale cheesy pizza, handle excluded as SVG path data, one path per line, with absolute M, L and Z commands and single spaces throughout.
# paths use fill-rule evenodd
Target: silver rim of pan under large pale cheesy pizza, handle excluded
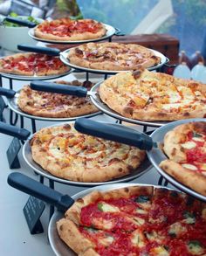
M 120 115 L 119 113 L 113 111 L 113 109 L 108 107 L 100 99 L 99 88 L 100 88 L 101 83 L 102 83 L 102 81 L 100 81 L 99 83 L 97 83 L 96 85 L 94 85 L 92 87 L 92 89 L 90 90 L 90 92 L 91 92 L 90 99 L 93 102 L 93 105 L 98 107 L 105 114 L 108 114 L 108 115 L 110 115 L 110 116 L 112 116 L 116 119 L 121 120 L 121 121 L 127 121 L 127 122 L 130 122 L 130 123 L 139 124 L 139 125 L 147 125 L 147 126 L 150 126 L 150 127 L 161 127 L 161 126 L 168 123 L 168 121 L 141 121 L 141 120 L 135 120 L 135 119 L 124 117 L 124 116 Z

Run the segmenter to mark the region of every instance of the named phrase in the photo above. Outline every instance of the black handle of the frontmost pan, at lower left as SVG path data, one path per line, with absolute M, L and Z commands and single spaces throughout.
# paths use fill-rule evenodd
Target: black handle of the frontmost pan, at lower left
M 74 203 L 72 197 L 63 195 L 56 190 L 52 190 L 44 184 L 39 183 L 31 177 L 25 176 L 19 172 L 10 173 L 7 183 L 17 190 L 21 190 L 26 194 L 37 197 L 46 203 L 56 206 L 58 211 L 65 212 Z

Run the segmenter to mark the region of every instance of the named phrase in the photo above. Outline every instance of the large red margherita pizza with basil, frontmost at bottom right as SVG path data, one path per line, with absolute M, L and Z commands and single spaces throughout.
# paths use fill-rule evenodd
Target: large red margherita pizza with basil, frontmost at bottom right
M 93 190 L 57 222 L 58 235 L 84 256 L 206 255 L 206 205 L 153 186 Z

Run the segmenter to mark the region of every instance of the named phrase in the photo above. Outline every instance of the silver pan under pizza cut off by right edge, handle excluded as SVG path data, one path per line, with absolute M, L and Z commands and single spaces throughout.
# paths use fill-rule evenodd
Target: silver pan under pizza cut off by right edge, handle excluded
M 164 139 L 164 135 L 166 135 L 166 133 L 175 128 L 176 126 L 182 124 L 182 123 L 187 123 L 190 121 L 206 121 L 206 119 L 204 118 L 196 118 L 196 119 L 188 119 L 188 120 L 181 120 L 181 121 L 173 121 L 168 123 L 166 126 L 163 126 L 161 128 L 156 129 L 153 134 L 151 135 L 152 139 L 154 142 L 163 142 Z M 166 172 L 164 172 L 164 170 L 162 170 L 159 167 L 159 164 L 161 163 L 162 160 L 167 159 L 167 156 L 164 155 L 164 153 L 157 148 L 153 148 L 151 150 L 149 150 L 147 152 L 148 154 L 148 159 L 150 160 L 150 162 L 154 165 L 154 168 L 156 170 L 158 170 L 158 172 L 161 174 L 161 176 L 163 176 L 166 180 L 168 180 L 169 183 L 172 183 L 176 188 L 178 188 L 179 190 L 182 190 L 186 193 L 188 193 L 189 195 L 196 197 L 198 199 L 201 199 L 203 201 L 206 202 L 206 197 L 204 197 L 203 195 L 197 193 L 196 191 L 190 189 L 189 187 L 185 186 L 184 184 L 178 182 L 175 180 L 174 177 L 169 176 Z

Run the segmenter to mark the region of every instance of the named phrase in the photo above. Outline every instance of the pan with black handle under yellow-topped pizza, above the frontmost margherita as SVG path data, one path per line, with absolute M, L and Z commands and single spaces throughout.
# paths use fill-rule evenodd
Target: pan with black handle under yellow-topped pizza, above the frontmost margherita
M 71 122 L 70 122 L 71 123 Z M 60 126 L 62 123 L 58 125 L 52 125 L 51 127 L 54 126 Z M 113 124 L 116 126 L 116 124 Z M 118 125 L 117 125 L 118 126 Z M 65 184 L 72 184 L 72 185 L 79 185 L 79 186 L 93 186 L 93 185 L 100 185 L 100 184 L 106 184 L 106 183 L 120 183 L 120 182 L 128 182 L 130 180 L 133 180 L 139 176 L 142 176 L 145 174 L 148 170 L 151 169 L 151 163 L 148 161 L 148 157 L 144 160 L 143 163 L 141 163 L 140 167 L 138 167 L 136 170 L 134 170 L 131 174 L 127 176 L 122 176 L 120 178 L 116 178 L 110 181 L 98 183 L 98 182 L 93 182 L 93 183 L 83 183 L 83 182 L 75 182 L 71 180 L 67 180 L 58 176 L 53 176 L 51 173 L 48 171 L 44 170 L 41 168 L 38 163 L 34 162 L 31 156 L 31 146 L 30 146 L 30 140 L 33 135 L 31 133 L 24 129 L 24 128 L 17 128 L 14 126 L 11 126 L 9 124 L 5 124 L 3 122 L 0 122 L 0 132 L 2 132 L 5 135 L 11 135 L 17 137 L 19 140 L 24 140 L 26 141 L 24 143 L 23 149 L 22 149 L 22 154 L 24 157 L 25 162 L 31 167 L 32 170 L 35 170 L 38 174 L 41 176 L 45 176 L 55 182 L 58 183 L 65 183 Z M 34 134 L 35 135 L 35 134 Z

